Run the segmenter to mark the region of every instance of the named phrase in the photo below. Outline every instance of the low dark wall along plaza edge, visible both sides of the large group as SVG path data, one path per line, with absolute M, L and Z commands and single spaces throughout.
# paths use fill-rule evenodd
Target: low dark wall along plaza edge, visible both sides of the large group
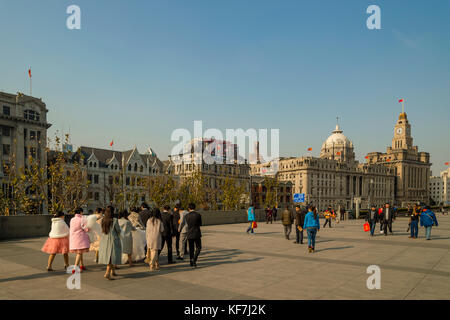
M 247 210 L 199 211 L 204 226 L 246 223 Z M 255 210 L 256 221 L 265 221 L 264 210 Z M 65 216 L 69 224 L 72 216 Z M 51 215 L 0 216 L 0 240 L 46 237 L 50 232 Z

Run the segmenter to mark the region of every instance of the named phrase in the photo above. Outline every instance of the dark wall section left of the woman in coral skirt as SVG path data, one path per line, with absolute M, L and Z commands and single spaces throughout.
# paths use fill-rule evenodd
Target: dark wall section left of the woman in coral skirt
M 0 240 L 47 236 L 51 215 L 0 216 Z

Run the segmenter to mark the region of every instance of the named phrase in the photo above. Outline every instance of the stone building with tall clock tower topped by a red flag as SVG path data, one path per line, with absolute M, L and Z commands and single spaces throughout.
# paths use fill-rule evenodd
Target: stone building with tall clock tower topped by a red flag
M 429 202 L 430 155 L 413 145 L 411 124 L 405 112 L 394 127 L 392 146 L 386 153 L 371 152 L 369 164 L 382 164 L 394 171 L 395 202 L 399 206 Z

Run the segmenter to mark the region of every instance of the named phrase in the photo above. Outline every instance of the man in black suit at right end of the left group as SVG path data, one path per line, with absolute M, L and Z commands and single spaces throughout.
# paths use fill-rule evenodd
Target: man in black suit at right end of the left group
M 195 211 L 195 204 L 190 203 L 188 206 L 188 213 L 183 217 L 180 225 L 180 230 L 187 224 L 187 239 L 189 242 L 189 256 L 191 267 L 197 267 L 197 259 L 202 250 L 202 216 Z M 195 250 L 194 250 L 195 247 Z

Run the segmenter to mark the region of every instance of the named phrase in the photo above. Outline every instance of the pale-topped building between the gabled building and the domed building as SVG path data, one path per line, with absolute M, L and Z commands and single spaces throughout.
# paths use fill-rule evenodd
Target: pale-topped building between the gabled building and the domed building
M 198 150 L 195 145 L 198 144 Z M 205 161 L 206 153 L 214 163 Z M 207 198 L 221 205 L 219 194 L 226 178 L 235 179 L 239 185 L 245 186 L 245 192 L 250 192 L 250 166 L 247 161 L 239 159 L 237 145 L 228 141 L 215 139 L 192 139 L 179 155 L 169 156 L 165 171 L 176 177 L 180 183 L 195 173 L 206 178 L 206 187 L 211 189 Z M 247 199 L 246 202 L 248 202 Z

